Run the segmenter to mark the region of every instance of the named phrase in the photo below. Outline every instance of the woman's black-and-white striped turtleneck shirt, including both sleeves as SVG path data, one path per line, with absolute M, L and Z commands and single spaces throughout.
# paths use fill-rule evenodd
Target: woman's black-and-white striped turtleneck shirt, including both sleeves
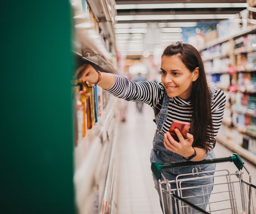
M 128 101 L 143 102 L 150 105 L 153 109 L 164 95 L 164 86 L 161 82 L 141 81 L 132 82 L 122 76 L 115 76 L 115 83 L 107 91 L 118 98 Z M 223 112 L 226 104 L 224 92 L 217 88 L 212 100 L 212 122 L 214 126 L 214 138 L 220 129 Z M 162 135 L 166 133 L 172 121 L 190 122 L 192 116 L 191 101 L 184 101 L 179 97 L 170 98 L 167 119 L 164 121 Z M 155 116 L 158 124 L 160 112 Z M 208 130 L 209 131 L 209 130 Z

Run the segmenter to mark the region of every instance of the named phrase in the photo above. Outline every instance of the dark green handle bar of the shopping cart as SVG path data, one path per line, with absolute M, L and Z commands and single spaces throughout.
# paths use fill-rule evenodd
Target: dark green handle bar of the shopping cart
M 186 166 L 197 166 L 197 165 L 204 165 L 204 164 L 216 164 L 216 163 L 222 163 L 222 162 L 233 162 L 235 166 L 238 168 L 238 170 L 243 169 L 243 160 L 239 157 L 238 154 L 234 153 L 233 155 L 229 157 L 221 157 L 221 158 L 213 158 L 213 159 L 207 159 L 207 160 L 201 160 L 201 161 L 185 161 L 185 162 L 178 162 L 178 163 L 165 163 L 160 164 L 157 162 L 151 163 L 151 171 L 155 175 L 155 178 L 161 179 L 162 178 L 162 169 L 167 168 L 178 168 L 178 167 L 186 167 Z

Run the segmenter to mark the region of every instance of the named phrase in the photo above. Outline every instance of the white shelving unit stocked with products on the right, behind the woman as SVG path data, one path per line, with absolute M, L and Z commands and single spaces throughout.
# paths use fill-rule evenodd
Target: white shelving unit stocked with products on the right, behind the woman
M 248 34 L 254 34 L 256 33 L 256 25 L 253 25 L 253 26 L 250 26 L 248 28 L 246 28 L 245 30 L 243 31 L 239 31 L 237 33 L 234 33 L 232 35 L 229 35 L 229 36 L 226 36 L 226 37 L 223 37 L 223 38 L 218 38 L 218 39 L 215 39 L 215 40 L 212 40 L 211 42 L 208 42 L 202 49 L 200 49 L 200 51 L 204 51 L 208 48 L 212 48 L 213 46 L 216 46 L 216 45 L 219 45 L 223 42 L 227 42 L 229 41 L 230 44 L 233 46 L 233 49 L 229 50 L 229 53 L 225 53 L 225 54 L 221 54 L 221 53 L 212 53 L 210 54 L 211 56 L 208 56 L 209 57 L 202 57 L 203 58 L 203 61 L 204 63 L 208 63 L 209 61 L 213 61 L 217 58 L 219 59 L 224 59 L 224 58 L 229 58 L 230 59 L 230 63 L 231 65 L 234 67 L 235 65 L 235 59 L 236 59 L 236 56 L 238 54 L 246 54 L 246 53 L 253 53 L 256 51 L 256 48 L 255 47 L 251 47 L 251 48 L 246 48 L 246 47 L 239 47 L 239 48 L 236 48 L 235 49 L 235 39 L 241 37 L 241 36 L 246 36 Z M 215 49 L 213 49 L 215 50 Z M 221 49 L 216 49 L 216 50 L 221 50 Z M 207 55 L 207 54 L 206 54 Z M 207 75 L 209 76 L 212 76 L 212 75 L 229 75 L 229 85 L 231 84 L 234 84 L 234 79 L 235 80 L 238 80 L 238 75 L 239 73 L 251 73 L 253 74 L 254 69 L 235 69 L 235 68 L 231 68 L 233 70 L 231 71 L 221 71 L 221 72 L 207 72 Z M 216 69 L 215 69 L 216 70 Z M 218 86 L 217 86 L 218 87 Z M 224 90 L 225 93 L 228 93 L 227 90 L 229 88 L 228 87 L 220 87 L 222 90 Z M 254 87 L 255 88 L 255 87 Z M 246 87 L 237 87 L 237 90 L 236 92 L 240 92 L 240 93 L 246 93 L 246 94 L 250 94 L 250 96 L 254 96 L 255 95 L 255 92 L 254 90 L 248 90 L 246 89 Z M 234 92 L 234 93 L 236 93 Z M 226 127 L 223 127 L 225 128 L 224 131 L 220 130 L 220 133 L 219 135 L 217 135 L 217 138 L 216 140 L 220 143 L 222 143 L 224 146 L 226 146 L 227 148 L 231 149 L 232 151 L 238 153 L 239 155 L 245 157 L 246 159 L 250 160 L 252 163 L 256 164 L 256 153 L 255 153 L 255 150 L 256 149 L 244 149 L 242 146 L 242 144 L 244 144 L 245 142 L 242 142 L 244 141 L 244 138 L 246 138 L 245 140 L 248 140 L 247 137 L 249 137 L 249 141 L 250 139 L 252 140 L 252 142 L 247 142 L 246 146 L 248 147 L 248 144 L 250 144 L 249 146 L 253 146 L 251 145 L 256 139 L 256 133 L 252 132 L 252 131 L 249 131 L 246 129 L 246 126 L 241 126 L 239 124 L 236 124 L 234 122 L 234 118 L 233 118 L 233 114 L 244 114 L 245 116 L 249 116 L 249 117 L 252 117 L 254 118 L 256 116 L 256 112 L 255 110 L 251 110 L 251 109 L 245 109 L 244 107 L 241 109 L 235 109 L 234 106 L 233 106 L 233 99 L 234 98 L 234 93 L 232 94 L 231 92 L 229 92 L 228 95 L 230 97 L 230 101 L 231 103 L 230 104 L 230 107 L 227 107 L 226 105 L 226 108 L 225 108 L 225 111 L 227 112 L 230 112 L 230 119 L 227 120 L 227 117 L 223 119 L 223 122 L 222 124 Z M 236 133 L 234 133 L 234 131 Z M 232 132 L 232 134 L 227 134 L 228 132 Z M 241 142 L 235 142 L 235 137 L 232 138 L 232 135 L 237 135 L 237 139 L 241 139 Z M 224 135 L 225 137 L 221 137 L 222 135 Z M 236 139 L 236 140 L 237 140 Z M 243 140 L 242 140 L 243 139 Z M 254 147 L 256 147 L 256 145 L 254 145 Z M 253 152 L 254 153 L 253 153 Z

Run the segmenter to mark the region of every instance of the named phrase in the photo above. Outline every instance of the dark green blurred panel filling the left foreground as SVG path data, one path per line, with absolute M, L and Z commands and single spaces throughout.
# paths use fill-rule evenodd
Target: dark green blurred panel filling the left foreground
M 1 3 L 1 213 L 75 213 L 68 1 Z

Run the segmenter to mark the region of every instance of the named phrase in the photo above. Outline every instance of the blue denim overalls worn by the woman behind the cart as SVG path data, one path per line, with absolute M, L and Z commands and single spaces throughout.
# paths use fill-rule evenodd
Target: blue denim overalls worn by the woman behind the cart
M 211 100 L 212 100 L 213 96 L 214 96 L 214 93 L 215 93 L 215 90 L 216 90 L 216 87 L 210 87 L 210 90 L 212 92 L 212 95 L 211 95 Z M 158 126 L 157 126 L 157 130 L 155 132 L 155 137 L 154 137 L 154 141 L 153 141 L 153 149 L 152 149 L 151 155 L 150 155 L 151 163 L 153 161 L 156 161 L 158 163 L 175 163 L 175 162 L 184 162 L 184 161 L 186 161 L 181 155 L 179 155 L 177 153 L 174 153 L 174 152 L 171 152 L 170 150 L 166 149 L 163 145 L 164 136 L 161 134 L 161 131 L 162 131 L 162 128 L 163 128 L 164 121 L 167 118 L 167 113 L 168 113 L 167 109 L 168 109 L 169 101 L 170 101 L 170 98 L 168 97 L 168 95 L 165 91 L 163 104 L 162 104 L 162 109 L 160 111 L 161 113 L 160 113 L 160 117 L 159 117 L 159 121 L 158 121 Z M 211 159 L 211 158 L 215 158 L 215 153 L 213 152 L 213 149 L 211 149 L 210 152 L 208 153 L 208 155 L 205 157 L 205 159 Z M 192 173 L 193 168 L 196 168 L 198 172 L 204 172 L 204 171 L 215 170 L 216 165 L 215 164 L 209 164 L 209 165 L 182 167 L 182 168 L 163 169 L 162 172 L 163 172 L 163 175 L 166 177 L 166 179 L 168 179 L 170 181 L 170 180 L 175 180 L 177 175 L 185 174 L 185 173 Z M 206 176 L 206 175 L 209 175 L 209 174 L 202 173 L 200 175 L 201 176 Z M 186 175 L 186 176 L 182 176 L 182 179 L 183 178 L 194 178 L 194 176 L 193 175 Z M 154 175 L 153 175 L 153 179 L 154 179 L 154 183 L 155 183 L 155 188 L 158 191 L 159 197 L 161 198 L 160 190 L 159 190 L 159 183 L 155 179 Z M 181 187 L 205 185 L 205 184 L 212 184 L 212 183 L 213 183 L 213 178 L 197 179 L 197 180 L 186 181 L 186 182 L 183 183 L 183 185 Z M 171 189 L 176 189 L 176 184 L 175 185 L 171 184 Z M 212 192 L 212 186 L 207 187 L 207 189 L 204 187 L 204 190 L 202 190 L 201 187 L 200 188 L 182 190 L 182 197 L 192 196 L 192 195 L 201 195 L 203 193 L 202 191 L 204 191 L 204 194 L 206 194 L 207 192 L 208 192 L 208 194 L 210 194 Z M 167 213 L 169 213 L 168 205 L 167 205 L 167 198 L 165 197 L 165 194 L 163 194 L 163 196 L 164 196 L 163 198 L 164 198 L 165 213 L 167 214 Z M 192 202 L 194 205 L 197 205 L 197 206 L 201 207 L 204 210 L 205 210 L 205 205 L 204 204 L 208 202 L 208 197 L 207 196 L 204 196 L 204 197 L 203 196 L 197 196 L 197 197 L 191 197 L 191 198 L 186 198 L 186 199 L 188 201 Z M 161 208 L 163 210 L 161 200 L 160 200 L 160 204 L 161 204 Z M 174 198 L 172 198 L 172 204 L 174 205 Z M 199 205 L 199 204 L 203 204 L 203 205 Z M 178 202 L 177 202 L 177 206 L 178 206 Z M 179 209 L 179 208 L 177 207 L 177 209 Z M 179 211 L 176 212 L 175 207 L 173 206 L 173 212 L 172 213 L 179 213 Z M 185 210 L 185 213 L 190 213 L 190 212 L 189 211 L 187 212 Z

